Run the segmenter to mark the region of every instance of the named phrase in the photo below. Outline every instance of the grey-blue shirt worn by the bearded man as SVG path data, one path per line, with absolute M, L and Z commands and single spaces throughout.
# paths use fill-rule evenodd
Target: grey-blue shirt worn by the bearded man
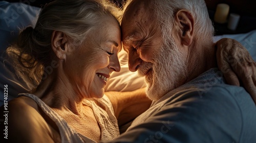
M 138 118 L 110 142 L 256 141 L 253 100 L 243 87 L 225 84 L 217 68 L 170 91 Z

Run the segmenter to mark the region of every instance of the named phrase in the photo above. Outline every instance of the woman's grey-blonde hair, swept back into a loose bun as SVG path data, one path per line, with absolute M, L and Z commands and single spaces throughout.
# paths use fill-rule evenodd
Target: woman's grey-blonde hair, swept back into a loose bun
M 114 17 L 110 3 L 97 0 L 57 0 L 41 9 L 34 28 L 20 32 L 16 45 L 7 49 L 17 73 L 29 75 L 34 84 L 39 84 L 44 68 L 51 65 L 55 55 L 51 48 L 53 31 L 60 31 L 73 41 L 75 46 L 83 40 L 103 17 Z

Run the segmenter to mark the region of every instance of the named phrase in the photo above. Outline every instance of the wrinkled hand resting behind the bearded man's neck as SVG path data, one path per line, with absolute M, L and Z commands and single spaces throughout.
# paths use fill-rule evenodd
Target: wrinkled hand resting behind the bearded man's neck
M 218 67 L 228 84 L 240 86 L 250 93 L 256 104 L 256 63 L 245 47 L 236 40 L 223 38 L 216 43 Z

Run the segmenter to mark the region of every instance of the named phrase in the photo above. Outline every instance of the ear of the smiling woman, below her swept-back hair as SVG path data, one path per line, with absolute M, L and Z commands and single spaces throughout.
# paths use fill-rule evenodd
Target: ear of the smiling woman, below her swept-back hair
M 59 59 L 66 58 L 67 52 L 67 36 L 60 31 L 53 31 L 52 33 L 52 50 Z

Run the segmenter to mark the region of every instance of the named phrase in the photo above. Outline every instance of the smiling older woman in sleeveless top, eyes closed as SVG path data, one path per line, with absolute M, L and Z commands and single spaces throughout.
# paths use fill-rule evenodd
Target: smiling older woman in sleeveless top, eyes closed
M 131 121 L 151 103 L 143 89 L 104 95 L 110 74 L 120 70 L 120 39 L 112 11 L 97 1 L 46 5 L 35 27 L 23 30 L 7 51 L 18 73 L 38 83 L 31 93 L 9 102 L 9 141 L 94 142 L 117 137 L 118 124 Z

